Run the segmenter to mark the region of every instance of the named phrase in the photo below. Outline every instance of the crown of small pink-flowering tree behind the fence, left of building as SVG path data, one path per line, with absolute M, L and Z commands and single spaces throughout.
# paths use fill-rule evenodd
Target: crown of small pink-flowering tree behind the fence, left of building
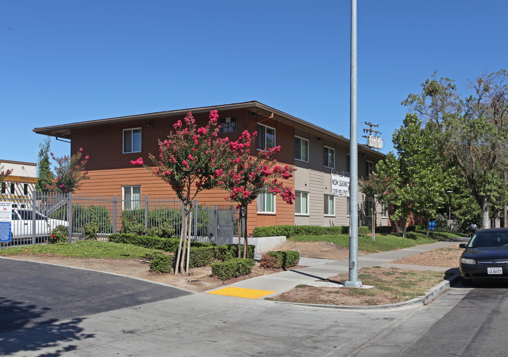
M 83 180 L 88 180 L 88 171 L 84 171 L 84 166 L 88 161 L 88 155 L 81 160 L 83 148 L 69 156 L 55 157 L 53 153 L 51 158 L 56 161 L 54 182 L 47 185 L 46 188 L 51 192 L 74 192 L 81 186 Z

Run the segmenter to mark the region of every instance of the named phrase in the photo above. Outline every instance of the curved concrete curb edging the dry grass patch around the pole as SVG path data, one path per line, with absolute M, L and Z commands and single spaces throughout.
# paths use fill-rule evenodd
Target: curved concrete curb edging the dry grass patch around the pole
M 280 304 L 280 305 L 296 305 L 302 307 L 313 307 L 318 309 L 332 309 L 332 310 L 396 310 L 396 309 L 408 309 L 412 307 L 424 306 L 434 300 L 444 291 L 448 290 L 451 285 L 455 284 L 460 279 L 460 274 L 455 274 L 450 278 L 444 279 L 429 291 L 425 295 L 415 297 L 408 301 L 401 303 L 388 304 L 388 305 L 372 305 L 372 306 L 346 306 L 346 305 L 324 305 L 324 304 L 306 304 L 306 303 L 291 303 L 285 301 L 273 301 L 266 300 L 267 302 Z

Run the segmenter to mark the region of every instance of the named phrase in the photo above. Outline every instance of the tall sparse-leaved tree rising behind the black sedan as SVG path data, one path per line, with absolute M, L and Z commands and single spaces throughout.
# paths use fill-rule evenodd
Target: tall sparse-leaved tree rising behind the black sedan
M 402 102 L 426 122 L 435 150 L 460 168 L 471 196 L 480 206 L 483 227 L 490 227 L 489 203 L 506 200 L 508 168 L 508 85 L 506 71 L 469 81 L 471 94 L 463 99 L 453 80 L 422 83 L 419 95 Z

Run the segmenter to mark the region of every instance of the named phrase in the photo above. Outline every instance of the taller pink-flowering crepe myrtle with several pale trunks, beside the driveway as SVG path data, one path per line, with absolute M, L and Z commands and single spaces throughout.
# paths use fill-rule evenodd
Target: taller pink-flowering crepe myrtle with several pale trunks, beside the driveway
M 153 175 L 171 186 L 176 196 L 183 202 L 183 220 L 180 231 L 175 274 L 188 274 L 188 252 L 190 225 L 192 222 L 193 202 L 203 190 L 218 187 L 221 180 L 218 171 L 226 170 L 231 162 L 228 138 L 219 138 L 217 110 L 210 111 L 209 122 L 198 128 L 192 112 L 188 112 L 181 121 L 173 125 L 164 141 L 158 140 L 158 158 L 149 154 L 153 166 L 143 163 L 143 159 L 131 161 L 133 165 L 143 165 Z M 187 263 L 184 269 L 185 256 Z

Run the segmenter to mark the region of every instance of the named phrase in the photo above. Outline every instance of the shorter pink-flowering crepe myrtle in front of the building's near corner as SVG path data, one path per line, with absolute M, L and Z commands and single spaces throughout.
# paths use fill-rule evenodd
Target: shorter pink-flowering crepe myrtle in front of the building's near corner
M 225 199 L 238 202 L 240 217 L 244 222 L 244 258 L 248 258 L 247 206 L 261 193 L 279 194 L 285 202 L 290 204 L 295 199 L 291 188 L 284 187 L 283 181 L 280 180 L 288 180 L 292 177 L 295 168 L 276 165 L 280 146 L 265 148 L 251 155 L 251 150 L 256 150 L 256 136 L 257 132 L 251 135 L 245 130 L 237 141 L 229 142 L 228 148 L 234 160 L 227 166 L 229 167 L 227 171 L 215 170 L 215 175 L 220 180 L 220 187 L 229 192 L 229 196 Z M 238 257 L 240 257 L 240 234 L 238 234 Z

